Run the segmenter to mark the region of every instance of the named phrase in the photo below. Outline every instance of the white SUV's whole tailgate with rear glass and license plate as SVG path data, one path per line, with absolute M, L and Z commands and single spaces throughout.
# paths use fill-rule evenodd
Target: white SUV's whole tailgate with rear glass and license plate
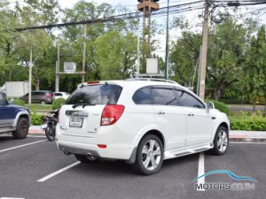
M 93 137 L 100 127 L 106 104 L 115 105 L 121 90 L 121 86 L 107 83 L 76 88 L 59 112 L 62 134 Z

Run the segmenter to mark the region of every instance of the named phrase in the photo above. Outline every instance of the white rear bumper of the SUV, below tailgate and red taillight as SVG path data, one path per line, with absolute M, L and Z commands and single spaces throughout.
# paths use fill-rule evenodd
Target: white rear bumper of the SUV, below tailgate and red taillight
M 128 137 L 127 134 L 121 134 L 117 131 L 107 133 L 106 129 L 99 130 L 98 134 L 94 134 L 94 136 L 64 134 L 58 125 L 56 142 L 58 149 L 71 154 L 129 160 L 134 147 L 126 142 L 129 138 L 122 142 L 123 136 Z M 105 144 L 106 149 L 99 148 L 98 144 Z

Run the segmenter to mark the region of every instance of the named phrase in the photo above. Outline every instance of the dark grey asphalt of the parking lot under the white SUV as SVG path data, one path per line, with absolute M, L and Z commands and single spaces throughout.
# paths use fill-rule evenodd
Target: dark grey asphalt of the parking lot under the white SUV
M 19 148 L 16 148 L 20 146 Z M 199 154 L 164 162 L 153 176 L 140 176 L 121 161 L 78 164 L 53 173 L 77 161 L 65 156 L 54 142 L 44 138 L 12 140 L 0 137 L 0 198 L 27 199 L 128 199 L 128 198 L 265 198 L 266 144 L 231 143 L 223 157 L 204 155 L 204 171 L 229 170 L 255 178 L 254 190 L 195 190 Z M 53 173 L 53 174 L 51 174 Z M 51 178 L 40 182 L 47 175 Z M 232 183 L 226 174 L 209 175 L 205 183 Z M 239 181 L 238 181 L 239 182 Z

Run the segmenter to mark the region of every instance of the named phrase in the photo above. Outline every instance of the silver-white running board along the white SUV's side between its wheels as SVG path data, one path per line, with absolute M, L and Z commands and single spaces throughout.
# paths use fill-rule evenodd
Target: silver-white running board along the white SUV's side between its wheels
M 175 157 L 184 157 L 193 153 L 199 153 L 208 149 L 213 149 L 212 143 L 201 144 L 193 147 L 186 147 L 181 149 L 171 149 L 164 152 L 164 159 L 171 159 Z

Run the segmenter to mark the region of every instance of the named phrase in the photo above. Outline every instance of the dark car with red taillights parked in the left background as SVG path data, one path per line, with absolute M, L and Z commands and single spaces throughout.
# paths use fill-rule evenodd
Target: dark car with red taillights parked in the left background
M 20 99 L 28 102 L 28 93 L 25 96 L 21 96 Z M 52 103 L 54 100 L 54 95 L 50 90 L 36 90 L 31 92 L 31 102 L 32 103 Z

